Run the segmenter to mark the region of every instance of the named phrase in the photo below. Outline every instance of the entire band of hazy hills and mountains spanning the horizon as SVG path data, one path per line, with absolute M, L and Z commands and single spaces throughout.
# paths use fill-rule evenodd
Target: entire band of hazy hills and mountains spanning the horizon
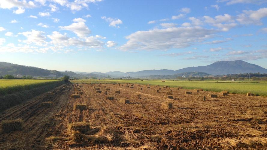
M 199 73 L 188 73 L 188 72 L 199 72 Z M 30 76 L 48 76 L 49 74 L 55 74 L 56 76 L 63 76 L 69 74 L 73 77 L 123 77 L 123 76 L 131 76 L 131 77 L 148 77 L 152 75 L 160 76 L 168 76 L 168 75 L 177 75 L 182 76 L 183 73 L 188 74 L 198 74 L 199 76 L 207 76 L 211 75 L 223 75 L 223 74 L 238 74 L 238 73 L 267 73 L 267 69 L 260 67 L 256 64 L 250 64 L 245 61 L 237 60 L 237 61 L 217 61 L 213 64 L 207 66 L 198 66 L 198 67 L 186 67 L 179 70 L 142 70 L 137 72 L 120 72 L 120 71 L 110 71 L 106 73 L 101 72 L 72 72 L 72 71 L 57 71 L 57 70 L 46 70 L 37 67 L 28 67 L 23 65 L 11 64 L 7 62 L 0 62 L 0 75 L 30 75 Z

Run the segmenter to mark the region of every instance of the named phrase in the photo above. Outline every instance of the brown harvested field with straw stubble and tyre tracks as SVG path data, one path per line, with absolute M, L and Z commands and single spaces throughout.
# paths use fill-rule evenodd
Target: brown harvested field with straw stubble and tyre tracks
M 136 84 L 134 88 L 80 85 L 80 98 L 71 98 L 75 86 L 61 91 L 62 85 L 50 91 L 60 91 L 51 98 L 44 93 L 1 112 L 0 121 L 23 119 L 24 124 L 21 131 L 0 131 L 0 149 L 267 149 L 266 97 L 177 88 L 157 93 L 156 87 L 141 91 Z M 111 90 L 108 95 L 96 93 L 93 86 L 97 85 L 102 91 Z M 165 98 L 169 89 L 174 99 Z M 141 99 L 132 98 L 138 94 Z M 106 96 L 115 99 L 106 100 Z M 130 104 L 120 103 L 119 98 Z M 40 107 L 45 101 L 53 106 Z M 166 103 L 172 103 L 172 108 L 161 107 Z M 88 109 L 74 110 L 75 104 L 86 104 Z M 74 122 L 89 122 L 90 129 L 85 134 L 68 131 L 68 124 Z

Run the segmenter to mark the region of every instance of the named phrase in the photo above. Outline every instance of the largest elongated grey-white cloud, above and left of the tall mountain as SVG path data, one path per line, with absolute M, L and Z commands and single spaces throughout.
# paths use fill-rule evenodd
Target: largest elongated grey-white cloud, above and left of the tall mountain
M 137 31 L 126 36 L 127 43 L 120 46 L 121 50 L 166 50 L 170 48 L 183 48 L 202 42 L 210 38 L 215 31 L 202 27 L 173 27 L 168 29 L 155 29 Z

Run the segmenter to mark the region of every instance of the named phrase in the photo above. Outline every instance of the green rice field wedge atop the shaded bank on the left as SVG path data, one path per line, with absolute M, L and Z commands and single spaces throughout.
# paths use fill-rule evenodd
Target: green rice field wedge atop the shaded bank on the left
M 0 96 L 60 82 L 60 80 L 0 79 Z

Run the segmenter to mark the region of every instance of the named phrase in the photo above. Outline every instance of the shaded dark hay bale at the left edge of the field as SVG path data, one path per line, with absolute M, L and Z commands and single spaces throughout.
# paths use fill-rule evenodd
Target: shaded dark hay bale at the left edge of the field
M 3 120 L 1 122 L 2 132 L 10 132 L 21 130 L 23 125 L 22 119 L 14 119 L 14 120 Z

